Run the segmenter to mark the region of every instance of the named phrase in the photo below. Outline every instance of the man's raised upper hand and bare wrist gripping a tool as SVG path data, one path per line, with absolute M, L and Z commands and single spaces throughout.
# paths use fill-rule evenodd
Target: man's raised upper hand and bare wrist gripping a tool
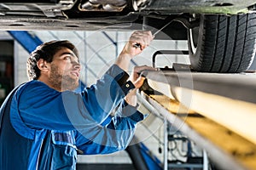
M 142 53 L 143 49 L 148 47 L 153 38 L 151 31 L 134 31 L 119 54 L 115 64 L 119 65 L 124 71 L 128 71 L 131 59 L 135 55 Z M 140 47 L 137 48 L 136 44 L 139 44 Z

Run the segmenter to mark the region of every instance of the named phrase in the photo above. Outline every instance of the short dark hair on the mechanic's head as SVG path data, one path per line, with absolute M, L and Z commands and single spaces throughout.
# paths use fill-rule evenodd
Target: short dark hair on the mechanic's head
M 41 71 L 38 68 L 38 60 L 44 59 L 46 62 L 52 62 L 54 55 L 61 50 L 61 48 L 69 48 L 73 53 L 79 57 L 78 49 L 72 42 L 67 40 L 44 42 L 39 45 L 27 59 L 27 76 L 30 80 L 38 80 Z

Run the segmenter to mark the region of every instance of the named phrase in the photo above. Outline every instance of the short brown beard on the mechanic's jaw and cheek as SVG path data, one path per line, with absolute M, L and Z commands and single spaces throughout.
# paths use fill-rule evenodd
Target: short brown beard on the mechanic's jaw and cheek
M 79 87 L 77 78 L 65 75 L 65 73 L 61 74 L 56 65 L 51 65 L 49 82 L 58 91 L 74 90 Z

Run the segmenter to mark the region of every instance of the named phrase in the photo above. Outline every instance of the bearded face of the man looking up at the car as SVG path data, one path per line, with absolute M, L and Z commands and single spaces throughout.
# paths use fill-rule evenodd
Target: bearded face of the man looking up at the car
M 50 63 L 49 82 L 56 89 L 74 90 L 79 87 L 80 64 L 69 48 L 61 48 Z

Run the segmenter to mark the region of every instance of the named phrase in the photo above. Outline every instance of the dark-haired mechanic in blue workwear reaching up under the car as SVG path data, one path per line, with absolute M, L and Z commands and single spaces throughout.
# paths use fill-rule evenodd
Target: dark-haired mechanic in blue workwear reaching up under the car
M 152 40 L 150 31 L 134 31 L 102 78 L 79 93 L 77 48 L 68 41 L 38 46 L 27 60 L 30 82 L 1 107 L 0 169 L 75 169 L 77 154 L 124 150 L 145 117 L 136 109 L 144 81 L 138 72 L 153 68 L 126 71 Z

